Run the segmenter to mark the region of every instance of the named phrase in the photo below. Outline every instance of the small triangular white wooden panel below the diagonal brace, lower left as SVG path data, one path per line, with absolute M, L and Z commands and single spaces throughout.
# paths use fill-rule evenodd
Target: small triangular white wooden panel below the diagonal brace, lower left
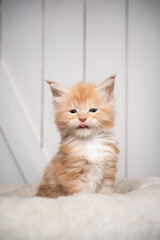
M 0 132 L 0 184 L 25 183 Z

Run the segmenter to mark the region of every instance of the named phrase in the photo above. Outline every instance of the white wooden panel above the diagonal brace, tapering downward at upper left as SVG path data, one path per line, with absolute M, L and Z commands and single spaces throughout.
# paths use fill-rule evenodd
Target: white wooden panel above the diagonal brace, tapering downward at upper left
M 3 61 L 40 141 L 41 1 L 2 0 Z

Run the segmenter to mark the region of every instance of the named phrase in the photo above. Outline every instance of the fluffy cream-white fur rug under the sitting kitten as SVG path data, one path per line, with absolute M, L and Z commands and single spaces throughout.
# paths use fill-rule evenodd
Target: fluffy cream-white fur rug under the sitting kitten
M 113 195 L 33 197 L 37 184 L 1 185 L 1 240 L 160 240 L 160 178 L 117 180 Z

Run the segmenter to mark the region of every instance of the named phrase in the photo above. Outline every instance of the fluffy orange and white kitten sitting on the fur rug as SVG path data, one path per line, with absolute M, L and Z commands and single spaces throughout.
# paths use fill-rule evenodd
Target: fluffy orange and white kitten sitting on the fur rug
M 48 82 L 61 142 L 45 170 L 37 196 L 114 192 L 119 152 L 112 133 L 114 80 L 111 76 L 99 86 L 81 82 L 70 89 Z

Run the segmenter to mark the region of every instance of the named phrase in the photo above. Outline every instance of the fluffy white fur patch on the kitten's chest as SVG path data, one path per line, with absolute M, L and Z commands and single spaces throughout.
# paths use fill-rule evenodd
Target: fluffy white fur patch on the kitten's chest
M 82 131 L 85 130 L 82 129 Z M 87 173 L 78 182 L 84 191 L 96 192 L 98 188 L 102 187 L 104 161 L 110 160 L 115 154 L 113 149 L 107 146 L 106 143 L 116 144 L 116 141 L 113 137 L 99 134 L 85 139 L 70 138 L 67 142 L 67 144 L 74 147 L 72 152 L 74 156 L 80 158 L 83 156 L 91 163 Z

